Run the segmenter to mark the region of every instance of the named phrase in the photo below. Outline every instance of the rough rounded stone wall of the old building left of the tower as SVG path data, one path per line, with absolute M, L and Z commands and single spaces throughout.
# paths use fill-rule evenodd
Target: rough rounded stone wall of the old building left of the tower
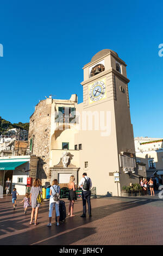
M 51 180 L 49 171 L 49 145 L 51 135 L 51 105 L 52 99 L 40 101 L 35 106 L 35 112 L 30 117 L 29 149 L 32 155 L 39 156 L 38 178 L 45 181 Z

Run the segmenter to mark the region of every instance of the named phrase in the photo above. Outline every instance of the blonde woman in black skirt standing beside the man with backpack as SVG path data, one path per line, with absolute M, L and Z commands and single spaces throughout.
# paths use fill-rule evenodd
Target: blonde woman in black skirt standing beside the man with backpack
M 74 201 L 77 200 L 77 195 L 76 195 L 76 187 L 74 184 L 74 176 L 70 176 L 70 182 L 68 183 L 68 188 L 69 188 L 69 195 L 68 195 L 68 200 L 70 200 L 70 205 L 69 205 L 69 210 L 68 210 L 68 216 L 73 217 L 73 205 Z M 70 215 L 71 212 L 71 215 Z

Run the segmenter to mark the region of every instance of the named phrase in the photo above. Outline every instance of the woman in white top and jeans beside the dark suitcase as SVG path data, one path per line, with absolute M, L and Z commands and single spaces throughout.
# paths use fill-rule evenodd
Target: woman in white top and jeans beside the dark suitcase
M 54 200 L 54 194 L 59 193 L 60 194 L 60 186 L 58 186 L 58 180 L 55 179 L 52 182 L 52 186 L 50 188 L 50 201 L 49 201 L 49 223 L 47 224 L 48 227 L 52 226 L 52 212 L 53 212 L 53 207 L 55 205 L 55 211 L 57 215 L 57 225 L 59 226 L 59 201 Z

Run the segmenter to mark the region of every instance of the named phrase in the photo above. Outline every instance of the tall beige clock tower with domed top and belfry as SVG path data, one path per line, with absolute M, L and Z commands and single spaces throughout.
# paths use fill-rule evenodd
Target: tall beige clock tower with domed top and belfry
M 83 148 L 80 165 L 97 187 L 97 194 L 121 196 L 123 186 L 139 182 L 126 66 L 116 52 L 105 49 L 83 68 L 82 111 L 98 115 L 99 129 L 82 131 L 78 137 Z M 116 182 L 115 172 L 120 182 Z

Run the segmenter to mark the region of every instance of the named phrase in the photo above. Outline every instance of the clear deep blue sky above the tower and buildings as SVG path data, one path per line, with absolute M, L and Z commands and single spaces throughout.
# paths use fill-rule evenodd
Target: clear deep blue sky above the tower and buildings
M 83 65 L 110 48 L 127 63 L 134 136 L 162 137 L 163 2 L 1 1 L 2 118 L 28 122 L 50 94 L 83 101 Z

